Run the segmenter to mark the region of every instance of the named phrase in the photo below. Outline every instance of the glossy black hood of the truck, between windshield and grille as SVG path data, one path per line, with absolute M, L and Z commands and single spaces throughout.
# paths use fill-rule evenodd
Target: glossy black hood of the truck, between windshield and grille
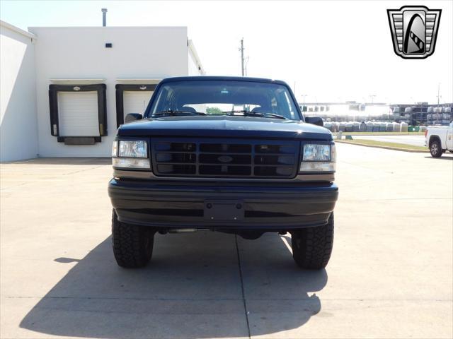
M 143 119 L 120 126 L 117 135 L 332 140 L 332 133 L 328 129 L 303 121 L 228 116 Z

